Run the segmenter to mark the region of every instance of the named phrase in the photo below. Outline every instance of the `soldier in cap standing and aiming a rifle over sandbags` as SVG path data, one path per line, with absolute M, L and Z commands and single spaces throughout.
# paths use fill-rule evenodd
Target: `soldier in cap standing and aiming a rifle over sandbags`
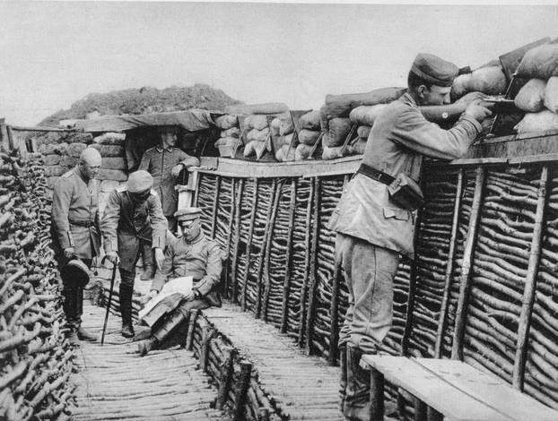
M 428 122 L 419 106 L 447 102 L 458 67 L 420 54 L 408 75 L 408 90 L 378 116 L 362 165 L 333 212 L 327 228 L 336 231 L 336 262 L 349 290 L 341 354 L 341 407 L 346 419 L 370 415 L 370 373 L 362 353 L 375 354 L 393 317 L 393 279 L 399 253 L 413 257 L 414 210 L 421 205 L 418 181 L 423 156 L 456 159 L 481 131 L 490 110 L 472 102 L 449 130 Z

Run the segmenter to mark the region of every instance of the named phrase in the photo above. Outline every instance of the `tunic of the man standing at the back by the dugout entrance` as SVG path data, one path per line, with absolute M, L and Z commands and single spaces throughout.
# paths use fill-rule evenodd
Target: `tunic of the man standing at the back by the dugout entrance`
M 161 146 L 145 150 L 138 170 L 145 170 L 153 176 L 153 190 L 159 194 L 162 203 L 162 213 L 165 217 L 172 217 L 177 210 L 179 196 L 174 189 L 175 179 L 172 168 L 179 164 L 185 167 L 199 165 L 199 159 L 188 155 L 179 148 L 163 149 Z

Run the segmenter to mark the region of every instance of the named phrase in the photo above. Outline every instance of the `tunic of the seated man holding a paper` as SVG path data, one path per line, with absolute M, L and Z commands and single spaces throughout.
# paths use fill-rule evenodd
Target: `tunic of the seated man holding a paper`
M 169 279 L 183 276 L 194 278 L 194 289 L 210 303 L 219 300 L 214 287 L 221 279 L 222 252 L 219 245 L 200 233 L 192 241 L 178 237 L 170 241 L 165 251 L 162 269 L 153 279 L 152 289 L 161 291 Z

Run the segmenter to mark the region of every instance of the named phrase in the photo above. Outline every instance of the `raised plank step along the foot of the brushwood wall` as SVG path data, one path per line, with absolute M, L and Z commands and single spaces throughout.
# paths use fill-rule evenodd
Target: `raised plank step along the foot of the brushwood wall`
M 262 389 L 290 420 L 341 421 L 339 367 L 303 354 L 294 341 L 237 305 L 203 311 L 217 331 L 253 363 Z

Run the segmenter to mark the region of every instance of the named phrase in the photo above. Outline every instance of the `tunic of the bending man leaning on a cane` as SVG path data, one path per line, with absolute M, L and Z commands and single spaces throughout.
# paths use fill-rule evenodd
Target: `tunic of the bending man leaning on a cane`
M 155 192 L 136 205 L 123 185 L 109 194 L 100 229 L 105 252 L 118 252 L 120 269 L 134 271 L 142 242 L 164 249 L 167 220 Z

